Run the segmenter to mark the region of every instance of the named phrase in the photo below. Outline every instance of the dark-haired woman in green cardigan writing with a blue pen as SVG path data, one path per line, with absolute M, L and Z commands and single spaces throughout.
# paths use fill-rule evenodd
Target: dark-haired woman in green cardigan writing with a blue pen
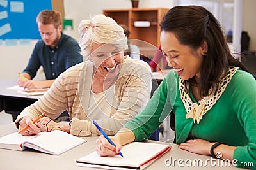
M 256 169 L 256 81 L 231 55 L 218 20 L 202 6 L 175 6 L 161 22 L 160 41 L 173 71 L 111 138 L 116 148 L 100 136 L 99 155 L 148 138 L 173 111 L 180 149 Z

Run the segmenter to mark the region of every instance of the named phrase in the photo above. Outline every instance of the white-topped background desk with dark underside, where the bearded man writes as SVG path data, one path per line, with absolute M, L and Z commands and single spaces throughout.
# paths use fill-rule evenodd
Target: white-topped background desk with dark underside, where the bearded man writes
M 7 87 L 17 85 L 15 80 L 0 80 L 0 111 L 11 113 L 13 119 L 20 114 L 24 108 L 35 103 L 42 95 L 25 96 L 16 90 L 7 90 Z

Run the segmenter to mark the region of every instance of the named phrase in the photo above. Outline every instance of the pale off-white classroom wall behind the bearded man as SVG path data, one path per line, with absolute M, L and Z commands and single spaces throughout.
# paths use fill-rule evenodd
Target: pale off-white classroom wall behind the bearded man
M 66 34 L 74 37 L 78 41 L 77 28 L 81 20 L 88 20 L 89 14 L 96 15 L 102 13 L 105 8 L 131 8 L 129 0 L 64 0 L 65 3 L 65 18 L 72 19 L 74 30 L 64 31 Z M 157 7 L 172 7 L 173 1 L 158 0 L 141 0 L 140 8 L 157 8 Z M 2 43 L 2 45 L 1 45 Z M 17 80 L 18 72 L 22 72 L 28 64 L 29 57 L 35 46 L 36 40 L 31 41 L 30 45 L 5 46 L 4 42 L 0 41 L 0 79 Z M 38 71 L 36 80 L 45 78 L 42 71 Z

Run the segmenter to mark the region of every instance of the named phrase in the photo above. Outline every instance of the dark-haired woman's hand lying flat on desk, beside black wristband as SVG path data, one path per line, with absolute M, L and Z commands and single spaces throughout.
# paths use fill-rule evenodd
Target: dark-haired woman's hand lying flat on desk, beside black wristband
M 203 139 L 195 139 L 188 140 L 186 143 L 180 143 L 179 148 L 201 155 L 211 155 L 210 150 L 212 145 L 214 145 L 214 143 L 210 143 L 209 141 L 205 141 Z

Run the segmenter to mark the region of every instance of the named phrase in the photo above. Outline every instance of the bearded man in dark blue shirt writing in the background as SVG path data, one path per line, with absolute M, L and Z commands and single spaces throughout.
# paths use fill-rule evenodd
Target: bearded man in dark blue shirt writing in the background
M 51 87 L 63 71 L 83 62 L 77 41 L 61 32 L 62 19 L 58 11 L 40 11 L 36 23 L 42 39 L 36 43 L 23 77 L 17 80 L 19 86 L 28 89 Z M 40 66 L 44 69 L 46 80 L 32 80 Z

